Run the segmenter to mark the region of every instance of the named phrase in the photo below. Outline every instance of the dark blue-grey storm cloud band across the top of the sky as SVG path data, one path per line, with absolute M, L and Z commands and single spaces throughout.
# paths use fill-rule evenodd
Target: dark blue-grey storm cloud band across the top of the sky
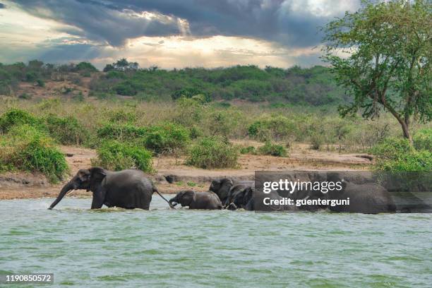
M 191 36 L 212 35 L 253 37 L 279 42 L 288 47 L 318 44 L 318 26 L 329 17 L 311 11 L 295 11 L 299 0 L 17 0 L 29 13 L 52 18 L 77 29 L 73 35 L 121 46 L 139 36 L 179 35 L 181 19 L 188 23 Z M 40 9 L 43 8 L 43 9 Z M 50 11 L 43 13 L 41 11 Z M 138 17 L 155 13 L 150 20 Z M 185 27 L 183 27 L 185 28 Z M 183 29 L 185 31 L 185 29 Z M 189 30 L 187 30 L 189 31 Z

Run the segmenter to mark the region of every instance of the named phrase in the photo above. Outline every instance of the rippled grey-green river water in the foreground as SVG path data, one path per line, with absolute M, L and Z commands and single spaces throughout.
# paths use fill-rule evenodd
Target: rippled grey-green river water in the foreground
M 150 211 L 79 198 L 47 210 L 52 200 L 0 201 L 0 274 L 54 273 L 37 287 L 432 287 L 431 214 L 169 210 L 156 195 Z

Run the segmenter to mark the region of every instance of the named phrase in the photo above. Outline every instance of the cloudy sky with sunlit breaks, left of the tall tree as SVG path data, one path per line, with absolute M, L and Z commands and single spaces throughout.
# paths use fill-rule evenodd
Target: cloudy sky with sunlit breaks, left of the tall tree
M 0 62 L 320 63 L 319 27 L 359 0 L 0 0 Z

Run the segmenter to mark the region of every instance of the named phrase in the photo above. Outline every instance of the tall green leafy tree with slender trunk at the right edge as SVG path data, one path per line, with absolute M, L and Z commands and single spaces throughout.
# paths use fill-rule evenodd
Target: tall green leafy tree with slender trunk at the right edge
M 412 142 L 412 121 L 432 120 L 432 1 L 362 1 L 323 32 L 323 59 L 354 97 L 340 114 L 390 112 Z

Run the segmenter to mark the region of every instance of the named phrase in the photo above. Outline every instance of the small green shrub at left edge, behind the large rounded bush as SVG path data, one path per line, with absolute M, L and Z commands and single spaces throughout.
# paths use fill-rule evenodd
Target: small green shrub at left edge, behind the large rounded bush
M 40 119 L 37 119 L 32 114 L 22 109 L 11 108 L 0 116 L 0 131 L 3 133 L 7 132 L 13 126 L 20 126 L 23 124 L 28 124 L 40 128 L 41 130 L 44 128 Z

